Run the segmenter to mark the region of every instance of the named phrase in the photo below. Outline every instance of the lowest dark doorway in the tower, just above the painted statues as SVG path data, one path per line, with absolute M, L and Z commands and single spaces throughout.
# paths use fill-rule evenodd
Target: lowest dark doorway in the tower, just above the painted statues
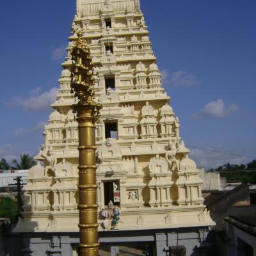
M 120 184 L 118 180 L 104 182 L 104 205 L 112 201 L 114 205 L 120 205 Z

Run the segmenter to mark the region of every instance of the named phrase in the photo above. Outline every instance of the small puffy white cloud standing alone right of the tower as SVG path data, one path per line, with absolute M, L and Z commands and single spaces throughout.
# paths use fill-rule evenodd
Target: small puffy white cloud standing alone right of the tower
M 230 115 L 232 112 L 237 111 L 239 107 L 236 104 L 231 104 L 230 106 L 225 106 L 222 99 L 216 101 L 211 101 L 200 110 L 196 115 L 193 115 L 193 119 L 199 118 L 223 118 Z

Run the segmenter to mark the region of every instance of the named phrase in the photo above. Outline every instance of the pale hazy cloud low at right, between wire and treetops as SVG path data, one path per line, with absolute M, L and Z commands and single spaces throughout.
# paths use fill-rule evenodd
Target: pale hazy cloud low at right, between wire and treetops
M 216 148 L 214 149 L 216 150 Z M 218 151 L 218 149 L 216 151 Z M 252 159 L 248 157 L 230 156 L 228 154 L 201 150 L 197 148 L 191 148 L 189 157 L 191 157 L 191 159 L 193 159 L 196 162 L 198 167 L 204 167 L 205 170 L 216 168 L 227 162 L 231 164 L 244 164 L 252 161 Z

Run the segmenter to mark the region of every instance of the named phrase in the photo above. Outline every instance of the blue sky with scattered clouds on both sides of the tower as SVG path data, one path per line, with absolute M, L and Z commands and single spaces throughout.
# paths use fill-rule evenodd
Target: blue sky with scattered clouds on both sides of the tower
M 161 4 L 159 4 L 161 3 Z M 0 2 L 0 157 L 36 154 L 76 1 Z M 256 158 L 256 1 L 141 0 L 163 84 L 199 166 Z

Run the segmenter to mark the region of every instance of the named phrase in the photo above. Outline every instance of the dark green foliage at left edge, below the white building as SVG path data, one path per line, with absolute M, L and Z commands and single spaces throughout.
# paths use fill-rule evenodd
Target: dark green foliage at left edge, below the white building
M 17 222 L 17 202 L 9 197 L 0 198 L 0 218 L 9 218 L 11 223 Z

